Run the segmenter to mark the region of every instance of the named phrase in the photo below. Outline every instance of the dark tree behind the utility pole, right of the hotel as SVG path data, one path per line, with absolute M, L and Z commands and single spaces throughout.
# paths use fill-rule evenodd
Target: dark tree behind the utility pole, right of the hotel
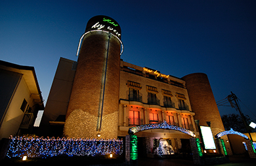
M 247 122 L 247 127 L 249 129 L 248 124 L 251 123 L 251 119 L 249 116 L 244 116 L 245 122 Z M 234 131 L 239 131 L 241 133 L 247 133 L 247 130 L 244 126 L 244 122 L 240 115 L 238 114 L 224 114 L 221 116 L 221 120 L 223 120 L 223 125 L 225 130 L 230 130 L 230 128 L 234 129 Z

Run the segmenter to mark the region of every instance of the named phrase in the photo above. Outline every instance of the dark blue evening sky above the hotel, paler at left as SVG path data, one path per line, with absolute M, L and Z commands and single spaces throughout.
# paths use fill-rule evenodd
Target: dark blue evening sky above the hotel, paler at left
M 255 8 L 255 0 L 1 0 L 0 59 L 35 67 L 46 103 L 60 57 L 77 60 L 87 21 L 106 15 L 121 26 L 123 61 L 180 78 L 206 73 L 216 101 L 233 91 L 256 120 Z

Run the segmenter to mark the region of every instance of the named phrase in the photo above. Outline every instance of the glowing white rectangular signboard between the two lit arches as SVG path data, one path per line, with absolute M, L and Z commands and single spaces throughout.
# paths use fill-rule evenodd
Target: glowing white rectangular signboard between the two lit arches
M 213 139 L 213 133 L 211 133 L 211 127 L 200 126 L 200 129 L 205 149 L 216 149 L 215 142 Z

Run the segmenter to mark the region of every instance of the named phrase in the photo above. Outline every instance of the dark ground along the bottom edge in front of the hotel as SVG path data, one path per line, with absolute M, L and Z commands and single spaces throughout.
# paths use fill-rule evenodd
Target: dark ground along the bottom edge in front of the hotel
M 211 166 L 255 166 L 256 159 L 250 159 L 247 156 L 230 156 L 230 163 L 224 164 L 211 164 L 207 163 L 207 165 Z M 102 164 L 103 163 L 103 164 Z M 94 165 L 94 166 L 127 166 L 127 164 L 123 163 L 123 160 L 111 161 L 109 159 L 103 159 L 101 162 L 95 161 L 95 159 L 84 159 L 84 158 L 49 158 L 49 159 L 30 159 L 30 161 L 21 161 L 21 159 L 5 159 L 4 161 L 0 161 L 0 165 Z M 188 166 L 194 165 L 192 159 L 188 158 L 173 158 L 173 159 L 152 159 L 152 158 L 139 158 L 138 166 Z M 194 165 L 195 166 L 195 165 Z

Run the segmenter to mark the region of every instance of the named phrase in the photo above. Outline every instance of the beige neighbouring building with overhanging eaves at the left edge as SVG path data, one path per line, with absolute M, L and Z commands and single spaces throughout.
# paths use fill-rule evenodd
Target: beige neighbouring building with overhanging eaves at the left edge
M 43 97 L 35 69 L 0 61 L 0 139 L 31 133 Z

